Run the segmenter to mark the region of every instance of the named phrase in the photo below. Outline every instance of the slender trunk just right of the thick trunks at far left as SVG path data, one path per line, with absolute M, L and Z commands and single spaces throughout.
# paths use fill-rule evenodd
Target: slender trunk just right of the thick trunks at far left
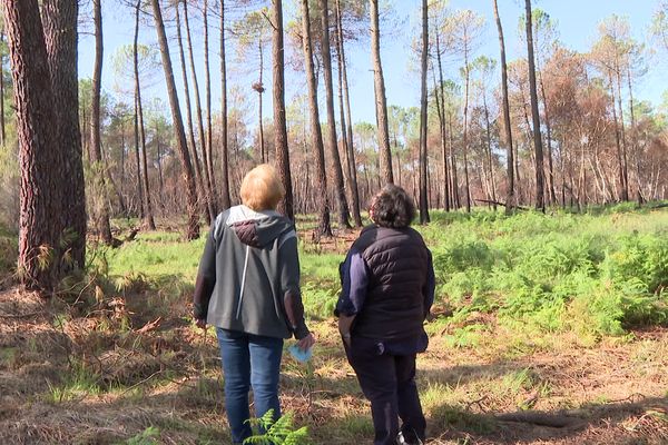
M 100 205 L 97 209 L 97 228 L 102 241 L 108 246 L 111 245 L 111 227 L 109 226 L 109 208 L 107 206 L 107 186 L 105 179 L 105 167 L 102 165 L 102 150 L 100 138 L 100 96 L 102 80 L 102 7 L 101 0 L 92 0 L 94 23 L 95 23 L 95 67 L 92 70 L 92 103 L 90 111 L 90 145 L 92 148 L 92 162 L 96 166 L 96 181 L 98 184 L 98 192 L 102 195 Z

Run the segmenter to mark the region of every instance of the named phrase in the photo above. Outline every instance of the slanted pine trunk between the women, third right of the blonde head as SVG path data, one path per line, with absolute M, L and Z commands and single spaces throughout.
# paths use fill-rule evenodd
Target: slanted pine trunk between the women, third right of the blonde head
M 338 156 L 338 144 L 336 142 L 336 118 L 334 115 L 334 86 L 332 76 L 332 51 L 330 49 L 330 8 L 327 0 L 320 0 L 322 40 L 321 52 L 323 58 L 323 71 L 325 78 L 325 102 L 327 107 L 327 145 L 334 162 L 334 185 L 336 204 L 338 206 L 338 226 L 350 229 L 350 212 L 347 200 L 345 198 L 345 187 L 343 184 L 343 168 L 341 167 L 341 157 Z

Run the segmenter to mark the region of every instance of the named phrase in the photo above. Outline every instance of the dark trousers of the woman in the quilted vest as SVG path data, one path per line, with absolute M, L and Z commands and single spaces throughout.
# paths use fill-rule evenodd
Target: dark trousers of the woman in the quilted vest
M 415 354 L 391 355 L 377 343 L 355 337 L 346 354 L 371 402 L 374 445 L 395 445 L 400 431 L 409 443 L 424 442 L 426 422 L 415 384 Z M 397 417 L 403 422 L 401 429 Z

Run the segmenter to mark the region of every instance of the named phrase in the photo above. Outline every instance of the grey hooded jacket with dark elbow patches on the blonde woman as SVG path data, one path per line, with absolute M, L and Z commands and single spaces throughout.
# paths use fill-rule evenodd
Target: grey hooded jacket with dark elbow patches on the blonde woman
M 216 218 L 199 263 L 195 318 L 224 329 L 304 338 L 297 237 L 273 210 L 232 207 Z

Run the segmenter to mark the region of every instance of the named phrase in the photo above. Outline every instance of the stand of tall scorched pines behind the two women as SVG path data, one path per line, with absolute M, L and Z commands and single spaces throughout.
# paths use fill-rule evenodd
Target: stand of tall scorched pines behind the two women
M 517 31 L 527 57 L 508 61 L 508 29 L 490 2 L 500 61 L 480 51 L 485 18 L 421 1 L 412 60 L 421 100 L 403 108 L 386 100 L 381 48 L 393 11 L 377 0 L 293 0 L 287 19 L 282 0 L 114 0 L 105 6 L 127 11 L 134 33 L 109 66 L 101 0 L 2 0 L 0 142 L 9 167 L 0 179 L 2 202 L 19 214 L 24 285 L 52 289 L 84 268 L 87 229 L 114 245 L 112 218 L 155 229 L 157 217 L 178 224 L 185 214 L 186 237 L 198 237 L 202 220 L 239 201 L 243 175 L 258 162 L 279 171 L 282 211 L 317 214 L 317 237 L 333 234 L 332 220 L 360 227 L 365 202 L 389 182 L 416 198 L 422 224 L 430 208 L 665 199 L 668 119 L 636 98 L 650 55 L 628 20 L 603 19 L 581 53 L 525 0 Z M 659 2 L 651 30 L 664 50 L 667 14 Z M 78 79 L 81 27 L 95 41 L 91 79 Z M 350 95 L 352 46 L 371 55 L 374 123 L 352 120 L 355 100 L 371 98 Z M 101 88 L 105 70 L 112 91 Z M 287 103 L 286 72 L 304 86 Z M 147 93 L 156 87 L 165 98 Z

